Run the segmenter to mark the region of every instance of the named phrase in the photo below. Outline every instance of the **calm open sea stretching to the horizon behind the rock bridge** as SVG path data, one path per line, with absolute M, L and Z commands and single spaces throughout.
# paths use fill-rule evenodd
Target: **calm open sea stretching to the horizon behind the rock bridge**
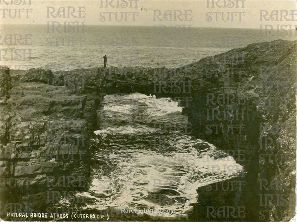
M 7 33 L 20 33 L 23 38 L 28 33 L 33 40 L 28 40 L 31 45 L 14 45 L 12 38 L 12 44 L 1 45 L 7 50 L 6 59 L 11 58 L 12 49 L 31 49 L 32 53 L 31 59 L 25 61 L 23 57 L 20 61 L 6 61 L 2 52 L 1 65 L 71 70 L 102 66 L 106 54 L 108 66 L 177 67 L 250 43 L 282 38 L 260 36 L 257 29 L 193 27 L 165 30 L 153 26 L 86 25 L 75 33 L 53 33 L 52 29 L 47 32 L 47 25 L 1 25 L 1 41 Z

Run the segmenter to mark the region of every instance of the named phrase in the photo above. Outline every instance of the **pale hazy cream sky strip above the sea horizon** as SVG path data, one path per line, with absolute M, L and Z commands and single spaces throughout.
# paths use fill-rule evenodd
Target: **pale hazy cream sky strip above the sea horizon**
M 281 11 L 278 11 L 278 19 L 274 19 L 274 21 L 260 21 L 260 10 L 267 10 L 268 17 L 273 10 L 287 10 L 289 14 L 291 14 L 290 10 L 296 10 L 296 1 L 284 1 L 284 0 L 246 0 L 243 2 L 238 1 L 238 7 L 236 7 L 237 2 L 235 0 L 225 1 L 224 0 L 215 0 L 214 7 L 212 6 L 212 1 L 209 0 L 191 0 L 191 1 L 183 1 L 183 0 L 174 0 L 174 1 L 161 1 L 161 0 L 139 0 L 137 2 L 137 7 L 135 7 L 135 0 L 127 1 L 128 7 L 121 8 L 121 4 L 124 3 L 124 0 L 119 1 L 119 6 L 117 7 L 117 1 L 113 1 L 110 3 L 111 0 L 108 0 L 108 7 L 106 6 L 106 1 L 102 0 L 86 0 L 86 1 L 31 1 L 30 5 L 5 5 L 1 4 L 1 8 L 5 9 L 15 9 L 15 8 L 32 8 L 33 12 L 29 13 L 29 18 L 26 19 L 10 19 L 10 18 L 2 18 L 1 16 L 1 23 L 2 24 L 47 24 L 47 21 L 84 21 L 85 25 L 191 25 L 192 27 L 218 27 L 218 28 L 260 28 L 260 24 L 271 24 L 271 25 L 296 25 L 296 15 L 293 16 L 293 20 L 290 19 L 287 21 L 283 16 L 281 16 Z M 125 0 L 126 1 L 126 0 Z M 28 2 L 28 0 L 27 0 Z M 217 2 L 217 4 L 216 4 Z M 228 8 L 226 5 L 230 2 L 234 3 L 234 7 Z M 110 4 L 109 4 L 110 3 Z M 226 7 L 224 7 L 224 4 Z M 115 6 L 114 8 L 111 6 Z M 124 4 L 125 5 L 125 4 Z M 59 10 L 59 7 L 74 7 L 76 11 L 78 11 L 77 7 L 85 7 L 85 16 L 84 18 L 73 18 L 73 17 L 56 17 L 53 18 L 51 14 L 48 17 L 48 7 L 54 7 L 55 12 Z M 102 7 L 103 6 L 103 7 Z M 209 6 L 209 7 L 208 7 Z M 219 7 L 221 6 L 221 7 Z M 172 17 L 174 19 L 167 19 L 160 21 L 156 16 L 154 17 L 154 12 L 159 12 L 156 10 L 160 10 L 162 15 L 164 15 L 166 10 L 180 10 L 183 15 L 178 17 Z M 187 12 L 189 16 L 186 18 L 184 16 L 184 10 L 191 10 L 191 12 Z M 50 11 L 52 12 L 52 11 Z M 67 11 L 66 11 L 67 12 Z M 71 11 L 72 12 L 72 11 Z M 111 12 L 111 14 L 106 13 Z M 118 20 L 115 19 L 115 13 L 118 14 Z M 212 15 L 212 21 L 208 22 L 206 14 L 210 12 Z M 221 19 L 218 21 L 214 21 L 215 15 L 213 13 L 219 12 L 218 16 L 222 17 L 222 12 L 230 13 L 230 12 L 237 12 L 237 14 L 233 16 L 233 21 L 231 17 L 228 21 L 224 22 Z M 239 21 L 239 14 L 238 12 L 244 12 L 244 15 L 241 17 L 241 21 Z M 101 13 L 101 16 L 100 16 Z M 123 14 L 123 18 L 121 15 Z M 125 14 L 128 13 L 128 14 Z M 172 13 L 176 13 L 179 15 L 179 11 L 172 11 Z M 8 13 L 7 13 L 8 14 Z M 54 13 L 53 13 L 54 14 Z M 73 13 L 74 15 L 78 15 L 77 12 Z M 296 14 L 296 12 L 293 12 Z M 55 15 L 55 14 L 54 14 Z M 84 15 L 84 14 L 81 14 Z M 102 15 L 105 16 L 105 21 L 103 21 Z M 133 18 L 134 15 L 134 18 Z M 158 14 L 157 14 L 158 15 Z M 210 15 L 208 13 L 208 15 Z M 282 13 L 285 15 L 285 12 Z M 127 17 L 125 17 L 127 16 Z M 226 16 L 226 14 L 225 14 Z M 231 16 L 231 14 L 230 14 Z M 111 21 L 109 20 L 111 17 Z M 290 16 L 289 16 L 290 17 Z M 288 18 L 289 18 L 288 17 Z M 101 21 L 100 21 L 101 18 Z M 160 17 L 161 18 L 161 17 Z M 169 17 L 167 17 L 169 18 Z M 133 21 L 134 20 L 134 21 Z M 181 21 L 182 20 L 182 21 Z M 187 21 L 185 21 L 187 20 Z M 190 21 L 189 21 L 190 20 Z M 289 26 L 287 27 L 289 28 Z

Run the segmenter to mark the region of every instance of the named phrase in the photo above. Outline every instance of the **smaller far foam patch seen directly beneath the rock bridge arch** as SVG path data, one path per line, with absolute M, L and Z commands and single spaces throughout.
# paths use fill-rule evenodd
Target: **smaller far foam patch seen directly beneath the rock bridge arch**
M 170 98 L 159 98 L 153 95 L 132 93 L 128 95 L 106 95 L 103 99 L 103 107 L 99 110 L 101 122 L 106 123 L 101 130 L 94 131 L 95 134 L 135 134 L 153 132 L 151 127 L 145 126 L 150 121 L 159 121 L 160 117 L 168 118 L 176 114 L 180 119 L 182 107 L 178 107 L 179 101 Z M 154 119 L 154 117 L 156 117 Z

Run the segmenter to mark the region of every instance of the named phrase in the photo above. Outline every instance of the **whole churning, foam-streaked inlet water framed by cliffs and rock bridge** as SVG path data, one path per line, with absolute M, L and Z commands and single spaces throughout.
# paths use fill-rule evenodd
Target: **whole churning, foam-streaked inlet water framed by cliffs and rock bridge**
M 108 95 L 98 116 L 86 209 L 162 208 L 176 210 L 164 217 L 182 216 L 199 186 L 243 170 L 212 144 L 192 138 L 187 116 L 170 98 Z

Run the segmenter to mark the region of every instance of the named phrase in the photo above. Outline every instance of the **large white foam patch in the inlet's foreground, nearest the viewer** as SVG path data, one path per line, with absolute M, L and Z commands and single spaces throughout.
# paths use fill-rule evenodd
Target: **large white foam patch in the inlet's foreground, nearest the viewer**
M 212 157 L 222 152 L 204 141 L 182 136 L 176 141 L 176 147 L 178 143 L 187 144 L 187 148 L 164 153 L 129 150 L 134 155 L 128 161 L 122 161 L 119 155 L 113 154 L 116 170 L 105 176 L 99 172 L 91 186 L 95 197 L 104 194 L 105 198 L 98 198 L 88 207 L 165 208 L 175 209 L 179 215 L 184 215 L 192 208 L 191 204 L 197 202 L 196 189 L 199 186 L 233 178 L 243 170 L 233 158 Z M 201 143 L 204 147 L 208 146 L 203 152 L 195 148 Z M 217 168 L 212 170 L 210 166 Z M 159 200 L 160 197 L 166 198 L 168 204 Z

